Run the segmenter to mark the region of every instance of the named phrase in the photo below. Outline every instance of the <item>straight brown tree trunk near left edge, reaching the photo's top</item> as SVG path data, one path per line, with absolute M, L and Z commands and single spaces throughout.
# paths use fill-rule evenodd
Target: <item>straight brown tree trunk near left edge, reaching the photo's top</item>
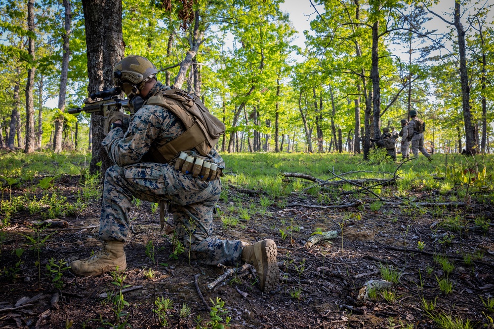
M 26 82 L 26 147 L 25 153 L 34 152 L 36 145 L 36 135 L 34 131 L 34 99 L 33 99 L 33 86 L 34 76 L 36 74 L 35 65 L 35 40 L 32 36 L 35 35 L 34 26 L 34 0 L 28 0 L 28 30 L 31 33 L 28 37 L 28 54 L 29 54 L 29 69 Z

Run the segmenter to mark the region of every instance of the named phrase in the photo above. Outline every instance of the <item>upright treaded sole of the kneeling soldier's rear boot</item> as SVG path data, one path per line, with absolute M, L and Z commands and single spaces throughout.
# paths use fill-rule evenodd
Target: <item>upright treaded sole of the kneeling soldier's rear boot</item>
M 258 275 L 262 276 L 264 280 L 259 278 L 260 289 L 261 291 L 272 291 L 280 281 L 280 269 L 276 262 L 276 256 L 278 256 L 276 244 L 273 240 L 263 241 L 260 250 L 255 250 L 254 252 L 256 253 L 256 258 L 261 259 Z M 261 255 L 258 255 L 258 253 Z

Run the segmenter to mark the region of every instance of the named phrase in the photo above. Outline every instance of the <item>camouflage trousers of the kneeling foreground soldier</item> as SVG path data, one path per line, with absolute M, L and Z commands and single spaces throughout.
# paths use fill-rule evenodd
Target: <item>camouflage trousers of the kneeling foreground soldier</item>
M 172 204 L 175 232 L 187 255 L 190 248 L 191 259 L 209 265 L 236 265 L 247 244 L 211 237 L 213 209 L 220 193 L 219 179 L 205 182 L 168 164 L 110 167 L 105 173 L 99 237 L 126 242 L 132 197 L 166 202 Z

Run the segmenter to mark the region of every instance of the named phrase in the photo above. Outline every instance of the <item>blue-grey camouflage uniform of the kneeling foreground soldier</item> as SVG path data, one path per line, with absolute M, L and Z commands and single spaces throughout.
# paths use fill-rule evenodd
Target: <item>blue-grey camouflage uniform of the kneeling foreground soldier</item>
M 157 82 L 145 99 L 165 89 Z M 102 145 L 116 165 L 105 173 L 99 236 L 104 241 L 127 241 L 128 211 L 133 197 L 166 202 L 172 205 L 178 238 L 187 251 L 190 246 L 191 259 L 209 265 L 236 265 L 241 262 L 242 248 L 247 244 L 211 237 L 221 181 L 206 182 L 182 174 L 170 165 L 174 161 L 140 162 L 153 142 L 168 142 L 184 131 L 182 122 L 173 113 L 158 105 L 145 105 L 132 117 L 125 134 L 121 128 L 108 133 Z M 207 158 L 218 164 L 218 168 L 225 168 L 225 162 L 214 149 Z

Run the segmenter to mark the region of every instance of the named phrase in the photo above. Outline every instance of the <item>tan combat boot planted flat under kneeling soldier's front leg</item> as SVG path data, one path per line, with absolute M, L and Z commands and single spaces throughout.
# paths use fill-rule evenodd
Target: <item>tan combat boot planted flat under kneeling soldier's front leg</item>
M 120 241 L 104 241 L 101 250 L 93 256 L 70 263 L 71 271 L 80 276 L 101 275 L 115 271 L 117 266 L 119 272 L 127 268 L 124 243 Z

